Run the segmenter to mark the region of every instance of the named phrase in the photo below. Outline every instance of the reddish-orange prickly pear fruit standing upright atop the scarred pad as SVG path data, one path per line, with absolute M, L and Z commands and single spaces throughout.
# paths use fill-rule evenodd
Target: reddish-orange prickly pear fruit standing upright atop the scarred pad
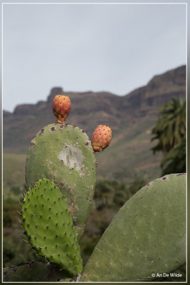
M 64 95 L 56 95 L 53 99 L 53 114 L 56 116 L 56 123 L 63 124 L 70 113 L 70 98 Z

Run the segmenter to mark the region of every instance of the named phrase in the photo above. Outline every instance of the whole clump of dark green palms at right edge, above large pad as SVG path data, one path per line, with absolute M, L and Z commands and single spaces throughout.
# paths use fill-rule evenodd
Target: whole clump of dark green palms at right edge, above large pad
M 152 140 L 158 140 L 153 152 L 162 151 L 162 175 L 186 172 L 186 101 L 173 98 L 162 105 L 152 129 Z

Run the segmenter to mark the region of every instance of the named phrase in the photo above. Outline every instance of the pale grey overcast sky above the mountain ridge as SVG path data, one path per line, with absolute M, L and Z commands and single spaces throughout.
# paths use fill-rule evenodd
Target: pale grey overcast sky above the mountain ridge
M 51 88 L 126 95 L 186 64 L 186 6 L 4 5 L 3 107 Z

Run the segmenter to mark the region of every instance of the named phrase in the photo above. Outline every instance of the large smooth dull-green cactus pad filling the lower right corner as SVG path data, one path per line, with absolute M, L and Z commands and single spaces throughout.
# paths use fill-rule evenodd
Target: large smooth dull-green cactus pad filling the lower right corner
M 151 281 L 186 262 L 186 177 L 142 187 L 115 215 L 95 247 L 83 281 Z

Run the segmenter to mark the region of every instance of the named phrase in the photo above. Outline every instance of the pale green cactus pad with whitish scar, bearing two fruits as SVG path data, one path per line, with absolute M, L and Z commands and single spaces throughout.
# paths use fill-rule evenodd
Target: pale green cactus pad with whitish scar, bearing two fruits
M 95 190 L 95 153 L 84 130 L 54 123 L 31 141 L 26 160 L 26 189 L 40 178 L 52 180 L 64 195 L 78 239 L 88 219 Z

